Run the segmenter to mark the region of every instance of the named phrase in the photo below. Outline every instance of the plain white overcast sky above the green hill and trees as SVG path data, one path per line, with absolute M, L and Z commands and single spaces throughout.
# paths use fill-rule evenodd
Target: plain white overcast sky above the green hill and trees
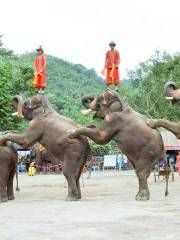
M 0 0 L 4 46 L 45 53 L 100 73 L 108 43 L 116 42 L 120 72 L 155 50 L 180 50 L 179 0 Z

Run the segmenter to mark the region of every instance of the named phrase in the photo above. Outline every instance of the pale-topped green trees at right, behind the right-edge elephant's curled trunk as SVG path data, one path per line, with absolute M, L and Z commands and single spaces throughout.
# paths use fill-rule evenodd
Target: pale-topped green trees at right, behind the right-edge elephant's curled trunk
M 129 72 L 132 87 L 125 91 L 129 104 L 138 112 L 151 118 L 167 118 L 178 121 L 178 109 L 164 96 L 164 84 L 174 81 L 180 85 L 180 54 L 171 56 L 156 52 L 148 61 Z

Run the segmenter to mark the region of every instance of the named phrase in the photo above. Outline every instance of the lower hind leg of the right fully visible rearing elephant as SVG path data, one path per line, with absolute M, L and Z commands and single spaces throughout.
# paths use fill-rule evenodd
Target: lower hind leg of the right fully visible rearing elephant
M 137 201 L 146 201 L 150 199 L 147 179 L 151 174 L 151 163 L 145 160 L 138 160 L 136 164 L 136 175 L 139 181 L 139 191 L 135 197 Z

